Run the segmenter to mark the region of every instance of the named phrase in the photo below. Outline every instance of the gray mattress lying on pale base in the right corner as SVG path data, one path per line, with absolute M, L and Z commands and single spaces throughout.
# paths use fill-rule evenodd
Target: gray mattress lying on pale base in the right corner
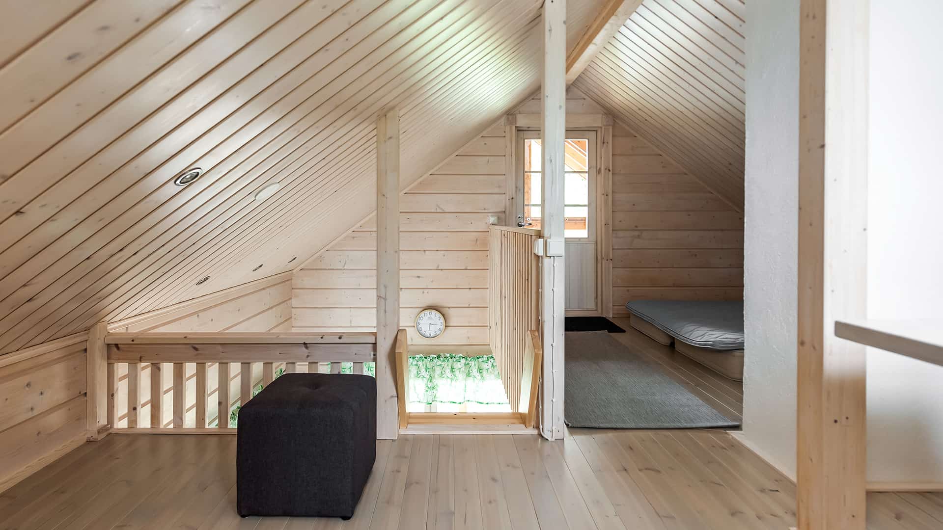
M 743 349 L 743 302 L 637 300 L 625 307 L 692 346 Z

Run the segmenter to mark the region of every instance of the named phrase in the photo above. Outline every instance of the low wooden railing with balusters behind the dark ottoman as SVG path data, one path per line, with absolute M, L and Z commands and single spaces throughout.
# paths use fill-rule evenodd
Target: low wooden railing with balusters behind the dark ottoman
M 376 360 L 373 333 L 114 333 L 105 343 L 115 433 L 235 432 L 233 407 L 278 371 L 341 373 L 351 363 L 351 373 L 363 373 L 363 364 Z

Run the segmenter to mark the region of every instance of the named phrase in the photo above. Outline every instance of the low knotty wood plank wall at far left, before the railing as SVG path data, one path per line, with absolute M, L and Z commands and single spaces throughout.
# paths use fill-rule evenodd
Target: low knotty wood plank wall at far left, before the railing
M 85 441 L 86 340 L 0 356 L 0 491 Z

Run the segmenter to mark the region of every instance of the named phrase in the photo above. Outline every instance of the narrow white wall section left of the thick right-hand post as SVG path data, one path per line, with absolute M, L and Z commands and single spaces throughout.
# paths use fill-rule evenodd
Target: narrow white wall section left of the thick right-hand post
M 743 438 L 796 469 L 799 0 L 747 2 Z

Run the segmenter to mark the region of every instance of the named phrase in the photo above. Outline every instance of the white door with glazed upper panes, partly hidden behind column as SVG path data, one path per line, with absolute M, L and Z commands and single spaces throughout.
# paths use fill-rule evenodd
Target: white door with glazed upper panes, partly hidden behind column
M 599 312 L 597 282 L 596 131 L 567 130 L 564 170 L 564 234 L 566 247 L 566 308 L 568 312 Z M 540 227 L 542 150 L 539 131 L 518 133 L 516 188 L 521 192 L 519 218 Z

